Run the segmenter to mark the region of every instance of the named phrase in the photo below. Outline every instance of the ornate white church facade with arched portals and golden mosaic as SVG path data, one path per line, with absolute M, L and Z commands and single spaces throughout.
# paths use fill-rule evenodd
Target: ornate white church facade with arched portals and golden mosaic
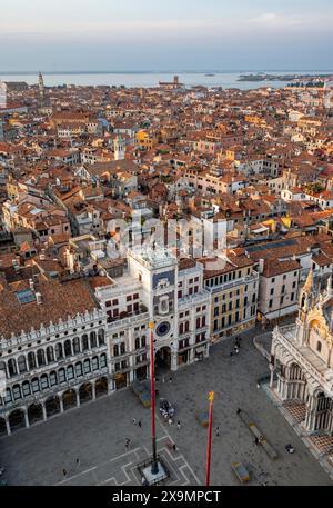
M 270 365 L 271 388 L 283 404 L 299 406 L 304 430 L 329 436 L 333 436 L 332 311 L 332 276 L 326 291 L 316 295 L 311 271 L 301 290 L 295 325 L 273 332 Z

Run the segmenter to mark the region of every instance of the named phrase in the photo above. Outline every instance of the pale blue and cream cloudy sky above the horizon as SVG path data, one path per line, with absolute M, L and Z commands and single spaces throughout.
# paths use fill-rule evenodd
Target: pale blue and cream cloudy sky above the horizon
M 0 0 L 0 71 L 333 70 L 332 0 Z

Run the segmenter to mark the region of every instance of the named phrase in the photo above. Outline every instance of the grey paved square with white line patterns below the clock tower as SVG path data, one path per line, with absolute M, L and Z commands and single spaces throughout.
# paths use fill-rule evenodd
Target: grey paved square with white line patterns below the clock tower
M 251 485 L 332 485 L 301 438 L 285 420 L 256 380 L 266 375 L 268 362 L 253 346 L 258 330 L 243 336 L 240 353 L 230 356 L 234 340 L 211 349 L 204 361 L 158 377 L 160 397 L 176 409 L 169 425 L 157 415 L 158 451 L 168 465 L 168 485 L 204 485 L 206 429 L 196 419 L 198 409 L 208 408 L 208 394 L 215 391 L 212 444 L 212 485 L 239 485 L 231 462 L 242 461 L 251 474 Z M 279 454 L 269 458 L 254 444 L 249 428 L 238 417 L 245 410 Z M 141 419 L 142 427 L 132 418 Z M 125 448 L 125 438 L 131 440 Z M 176 451 L 167 446 L 171 439 Z M 292 444 L 295 454 L 284 447 Z M 137 465 L 149 457 L 150 410 L 130 389 L 87 402 L 30 429 L 0 439 L 0 465 L 9 485 L 140 485 Z M 79 464 L 77 464 L 79 459 Z M 63 469 L 67 470 L 65 478 Z

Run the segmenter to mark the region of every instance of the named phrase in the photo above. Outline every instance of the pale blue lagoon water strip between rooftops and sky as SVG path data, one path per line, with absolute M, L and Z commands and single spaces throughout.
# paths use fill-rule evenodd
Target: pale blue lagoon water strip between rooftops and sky
M 262 71 L 251 71 L 251 73 Z M 333 71 L 265 71 L 269 74 L 333 74 Z M 214 76 L 205 76 L 212 73 Z M 239 88 L 241 90 L 250 90 L 260 87 L 282 88 L 286 84 L 285 81 L 238 81 L 240 74 L 250 73 L 244 71 L 228 72 L 228 71 L 202 71 L 202 72 L 44 72 L 44 84 L 47 87 L 54 87 L 59 84 L 82 84 L 82 86 L 124 86 L 127 88 L 142 87 L 150 88 L 157 87 L 159 81 L 172 81 L 173 76 L 179 76 L 180 82 L 185 87 L 204 86 L 204 87 L 223 87 L 223 88 Z M 26 81 L 28 84 L 38 82 L 38 72 L 17 72 L 17 73 L 1 73 L 0 80 L 3 81 Z

